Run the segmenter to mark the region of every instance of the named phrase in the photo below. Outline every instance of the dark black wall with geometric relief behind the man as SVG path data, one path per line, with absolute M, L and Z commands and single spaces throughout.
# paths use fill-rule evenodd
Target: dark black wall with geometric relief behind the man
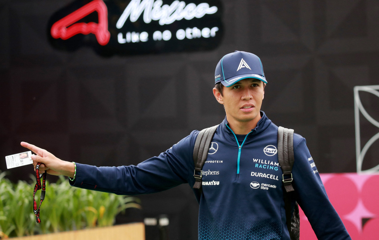
M 70 2 L 0 2 L 2 171 L 4 156 L 24 151 L 21 141 L 96 166 L 158 155 L 222 121 L 213 73 L 224 54 L 241 50 L 262 60 L 262 110 L 307 139 L 319 172 L 356 172 L 353 87 L 379 85 L 378 1 L 224 0 L 216 50 L 107 58 L 50 46 L 48 20 Z M 379 98 L 361 98 L 379 121 Z M 363 146 L 378 129 L 364 118 L 361 126 Z M 374 143 L 364 167 L 379 164 L 377 149 Z M 32 171 L 11 169 L 8 178 L 30 180 Z M 145 216 L 169 214 L 170 239 L 197 239 L 198 206 L 188 185 L 141 200 Z

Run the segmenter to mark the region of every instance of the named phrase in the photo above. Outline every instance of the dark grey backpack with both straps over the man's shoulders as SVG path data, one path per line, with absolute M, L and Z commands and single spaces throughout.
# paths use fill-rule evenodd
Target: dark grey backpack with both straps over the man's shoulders
M 202 186 L 202 173 L 201 170 L 204 166 L 205 160 L 207 159 L 208 149 L 211 144 L 213 135 L 215 135 L 218 125 L 203 129 L 199 132 L 196 138 L 195 147 L 193 150 L 193 161 L 195 165 L 194 178 L 195 183 L 193 185 L 194 189 L 199 189 L 201 193 Z M 290 232 L 291 240 L 300 239 L 300 217 L 299 217 L 299 206 L 295 201 L 294 211 L 291 214 L 291 201 L 294 199 L 295 190 L 292 186 L 293 176 L 292 176 L 292 166 L 294 163 L 293 155 L 293 129 L 286 129 L 284 127 L 279 127 L 278 129 L 278 160 L 279 165 L 282 168 L 282 182 L 283 182 L 283 192 L 284 192 L 284 207 L 287 219 L 287 229 Z M 291 219 L 291 221 L 289 221 Z

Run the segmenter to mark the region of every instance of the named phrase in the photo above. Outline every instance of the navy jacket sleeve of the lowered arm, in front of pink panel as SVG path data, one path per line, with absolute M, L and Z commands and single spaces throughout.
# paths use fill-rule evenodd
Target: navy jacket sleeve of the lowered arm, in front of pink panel
M 299 141 L 300 138 L 300 141 Z M 294 189 L 299 206 L 307 216 L 318 239 L 351 240 L 341 218 L 327 197 L 318 170 L 305 143 L 305 138 L 294 135 Z

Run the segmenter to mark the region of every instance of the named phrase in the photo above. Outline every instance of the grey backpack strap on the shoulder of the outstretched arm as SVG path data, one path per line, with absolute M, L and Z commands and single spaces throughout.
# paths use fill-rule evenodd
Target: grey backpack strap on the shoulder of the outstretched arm
M 213 135 L 215 135 L 218 125 L 203 129 L 199 132 L 199 135 L 197 135 L 195 147 L 193 149 L 193 163 L 195 165 L 195 169 L 193 173 L 193 176 L 195 178 L 195 183 L 193 184 L 193 188 L 195 189 L 201 188 L 201 184 L 202 184 L 201 170 L 203 169 L 205 160 L 207 159 L 208 149 L 211 144 Z

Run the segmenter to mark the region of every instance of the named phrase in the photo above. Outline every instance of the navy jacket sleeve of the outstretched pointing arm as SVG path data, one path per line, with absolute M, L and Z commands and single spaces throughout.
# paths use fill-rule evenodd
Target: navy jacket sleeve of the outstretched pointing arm
M 70 184 L 119 195 L 137 195 L 159 192 L 187 183 L 189 169 L 194 165 L 192 160 L 194 133 L 196 131 L 174 144 L 166 152 L 147 159 L 137 166 L 96 167 L 76 163 L 76 177 L 74 181 L 70 181 Z

